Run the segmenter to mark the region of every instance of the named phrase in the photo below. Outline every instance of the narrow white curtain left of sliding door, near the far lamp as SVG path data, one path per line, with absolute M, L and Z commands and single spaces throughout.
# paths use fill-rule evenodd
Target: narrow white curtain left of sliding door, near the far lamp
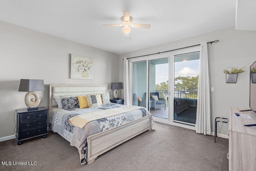
M 124 58 L 124 104 L 130 105 L 129 60 Z

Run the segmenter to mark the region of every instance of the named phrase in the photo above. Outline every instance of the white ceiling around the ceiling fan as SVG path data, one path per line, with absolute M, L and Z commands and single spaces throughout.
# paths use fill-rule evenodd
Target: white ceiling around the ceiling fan
M 243 0 L 241 0 L 243 1 Z M 134 24 L 122 40 L 123 10 Z M 236 0 L 0 0 L 0 20 L 124 54 L 235 26 Z

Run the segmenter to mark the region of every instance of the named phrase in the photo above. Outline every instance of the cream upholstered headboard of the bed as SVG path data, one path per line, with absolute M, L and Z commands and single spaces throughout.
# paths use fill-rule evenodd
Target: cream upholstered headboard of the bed
M 107 85 L 64 85 L 50 84 L 49 109 L 58 107 L 55 97 L 60 95 L 81 95 L 106 93 Z

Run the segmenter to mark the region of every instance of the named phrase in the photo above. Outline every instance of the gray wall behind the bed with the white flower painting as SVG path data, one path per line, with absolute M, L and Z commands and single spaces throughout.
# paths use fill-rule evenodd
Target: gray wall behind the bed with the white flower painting
M 70 79 L 70 54 L 93 58 L 94 79 Z M 26 107 L 20 79 L 43 79 L 39 106 L 48 107 L 49 84 L 108 84 L 119 81 L 119 55 L 0 21 L 0 138 L 14 132 L 14 111 Z M 16 119 L 16 117 L 15 117 Z

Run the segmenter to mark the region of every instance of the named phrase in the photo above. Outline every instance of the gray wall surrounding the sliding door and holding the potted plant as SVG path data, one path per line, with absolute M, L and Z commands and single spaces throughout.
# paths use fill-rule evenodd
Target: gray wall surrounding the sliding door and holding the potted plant
M 211 125 L 214 132 L 215 117 L 229 117 L 230 107 L 242 107 L 249 109 L 249 82 L 250 65 L 256 61 L 256 31 L 235 30 L 234 27 L 217 30 L 207 34 L 194 36 L 166 44 L 126 53 L 120 55 L 120 76 L 123 80 L 123 58 L 164 52 L 195 44 L 203 41 L 220 40 L 218 43 L 208 44 L 208 58 L 210 70 L 211 92 Z M 244 67 L 245 72 L 238 75 L 236 84 L 226 84 L 225 74 L 222 69 L 230 66 Z M 228 124 L 220 123 L 218 132 L 226 134 Z

